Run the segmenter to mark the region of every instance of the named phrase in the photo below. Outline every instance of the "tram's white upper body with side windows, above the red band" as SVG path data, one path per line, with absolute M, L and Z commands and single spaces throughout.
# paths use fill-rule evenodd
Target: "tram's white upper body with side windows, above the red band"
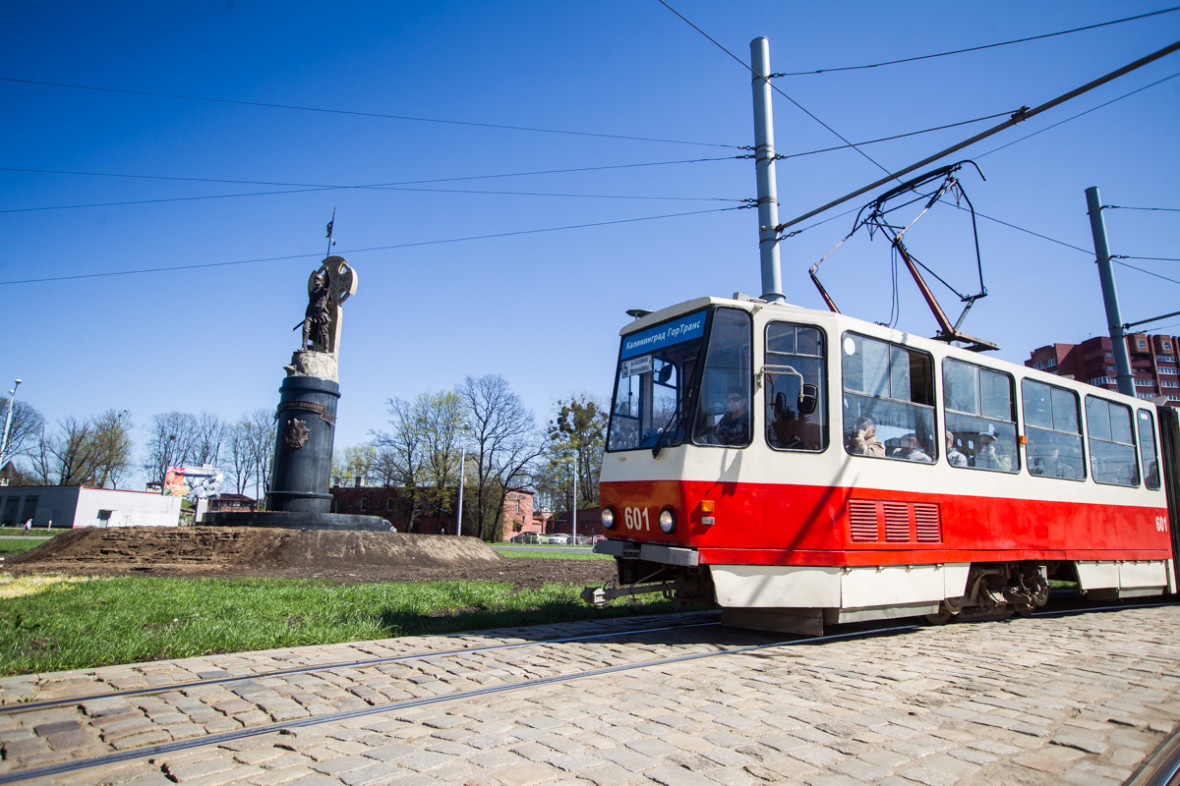
M 650 447 L 614 450 L 608 445 L 603 483 L 789 483 L 1152 507 L 1166 504 L 1158 464 L 1152 465 L 1160 454 L 1154 406 L 1132 397 L 846 315 L 743 296 L 686 301 L 643 315 L 620 335 L 624 340 L 658 335 L 657 326 L 710 307 L 749 315 L 748 347 L 733 352 L 730 359 L 740 366 L 745 361 L 739 358 L 748 358 L 748 367 L 735 372 L 749 389 L 748 439 L 740 445 L 704 445 L 686 433 L 680 444 L 662 448 L 655 458 Z M 791 330 L 813 336 L 811 348 L 792 349 L 794 355 L 780 353 L 780 346 L 786 346 L 781 334 Z M 742 341 L 740 330 L 734 335 Z M 805 341 L 801 338 L 793 346 Z M 642 347 L 631 351 L 640 365 L 644 355 L 636 353 L 642 352 Z M 709 352 L 714 352 L 712 346 Z M 622 360 L 628 362 L 625 343 Z M 792 450 L 773 444 L 779 423 L 771 392 L 778 385 L 794 394 L 799 387 L 791 380 L 800 376 L 795 367 L 808 362 L 822 376 L 815 380 L 820 394 L 809 419 L 826 438 L 824 444 Z M 625 373 L 623 367 L 621 373 Z M 709 373 L 707 360 L 704 374 L 696 374 L 697 380 L 706 380 L 699 395 L 702 413 L 712 393 L 706 389 Z M 616 384 L 622 382 L 616 379 Z M 620 400 L 614 406 L 616 413 L 623 407 Z M 867 441 L 891 451 L 892 458 L 851 452 L 847 440 L 864 420 L 857 417 L 860 413 L 876 415 L 878 437 Z M 799 413 L 795 418 L 808 419 Z M 929 452 L 924 460 L 896 458 L 907 440 L 917 444 L 919 439 L 919 453 L 923 447 Z M 992 463 L 996 471 L 984 466 L 989 443 L 1001 448 L 999 460 L 1008 463 Z M 1100 473 L 1107 473 L 1101 476 L 1104 482 L 1097 482 Z

